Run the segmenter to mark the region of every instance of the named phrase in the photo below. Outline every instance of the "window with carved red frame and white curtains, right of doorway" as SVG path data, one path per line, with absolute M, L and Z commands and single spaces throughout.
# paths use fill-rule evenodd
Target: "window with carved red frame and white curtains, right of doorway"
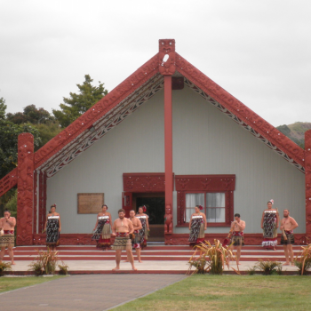
M 230 227 L 234 219 L 235 175 L 175 175 L 177 226 L 187 227 L 202 205 L 208 227 Z

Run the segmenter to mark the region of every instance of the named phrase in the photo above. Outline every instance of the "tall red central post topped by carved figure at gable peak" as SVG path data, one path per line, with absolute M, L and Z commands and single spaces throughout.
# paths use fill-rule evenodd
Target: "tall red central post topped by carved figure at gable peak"
M 171 76 L 175 73 L 175 40 L 159 40 L 159 72 L 164 76 L 164 152 L 165 152 L 165 206 L 172 210 L 172 108 L 171 108 Z M 171 216 L 172 222 L 172 216 Z M 165 235 L 171 234 L 168 230 Z

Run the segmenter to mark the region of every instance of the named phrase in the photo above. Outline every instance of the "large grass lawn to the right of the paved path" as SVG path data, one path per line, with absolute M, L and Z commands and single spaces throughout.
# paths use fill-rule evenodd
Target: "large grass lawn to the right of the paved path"
M 307 311 L 310 306 L 310 276 L 193 275 L 114 310 Z

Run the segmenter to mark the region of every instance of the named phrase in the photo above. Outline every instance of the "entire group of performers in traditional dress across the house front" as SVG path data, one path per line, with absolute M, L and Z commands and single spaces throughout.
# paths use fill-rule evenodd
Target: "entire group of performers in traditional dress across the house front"
M 277 245 L 277 229 L 280 224 L 280 217 L 277 209 L 273 208 L 274 201 L 267 203 L 267 209 L 263 211 L 261 218 L 261 228 L 263 229 L 264 240 L 262 246 L 267 250 L 276 250 Z M 204 231 L 207 228 L 206 216 L 202 212 L 201 205 L 195 206 L 195 212 L 191 215 L 189 222 L 189 242 L 195 245 L 204 242 Z M 93 229 L 92 240 L 95 240 L 97 247 L 116 251 L 116 268 L 120 268 L 121 251 L 127 251 L 127 261 L 132 264 L 132 268 L 136 270 L 133 263 L 132 249 L 136 250 L 139 262 L 140 250 L 147 246 L 148 240 L 148 215 L 145 213 L 146 207 L 140 206 L 139 211 L 130 211 L 130 218 L 125 218 L 123 209 L 118 211 L 118 219 L 112 224 L 111 214 L 108 212 L 108 206 L 102 205 L 102 211 L 97 215 L 97 221 Z M 13 251 L 14 246 L 14 227 L 16 219 L 11 217 L 8 210 L 4 211 L 4 218 L 0 219 L 0 263 L 4 259 L 4 251 L 7 248 L 12 265 L 14 265 Z M 284 265 L 293 265 L 292 245 L 295 243 L 293 230 L 298 227 L 295 219 L 290 216 L 290 211 L 283 211 L 283 219 L 281 220 L 280 229 L 282 231 L 281 244 L 283 245 L 286 262 Z M 237 264 L 241 257 L 241 249 L 244 245 L 243 230 L 245 229 L 245 221 L 240 218 L 240 214 L 235 213 L 235 220 L 231 223 L 230 232 L 227 242 L 230 249 L 235 248 Z M 46 231 L 46 245 L 55 250 L 60 243 L 60 214 L 56 212 L 56 204 L 51 206 L 51 211 L 46 216 L 44 231 Z M 112 234 L 111 234 L 112 231 Z M 116 236 L 115 243 L 110 245 L 111 236 Z M 223 243 L 225 244 L 225 242 Z

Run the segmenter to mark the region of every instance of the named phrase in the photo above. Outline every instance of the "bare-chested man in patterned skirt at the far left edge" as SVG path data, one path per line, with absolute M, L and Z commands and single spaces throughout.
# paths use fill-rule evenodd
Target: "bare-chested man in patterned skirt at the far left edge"
M 15 217 L 11 217 L 11 212 L 9 210 L 4 210 L 4 218 L 0 219 L 0 263 L 4 259 L 5 248 L 8 249 L 8 253 L 11 259 L 12 265 L 15 265 L 14 262 L 14 227 L 16 226 Z

